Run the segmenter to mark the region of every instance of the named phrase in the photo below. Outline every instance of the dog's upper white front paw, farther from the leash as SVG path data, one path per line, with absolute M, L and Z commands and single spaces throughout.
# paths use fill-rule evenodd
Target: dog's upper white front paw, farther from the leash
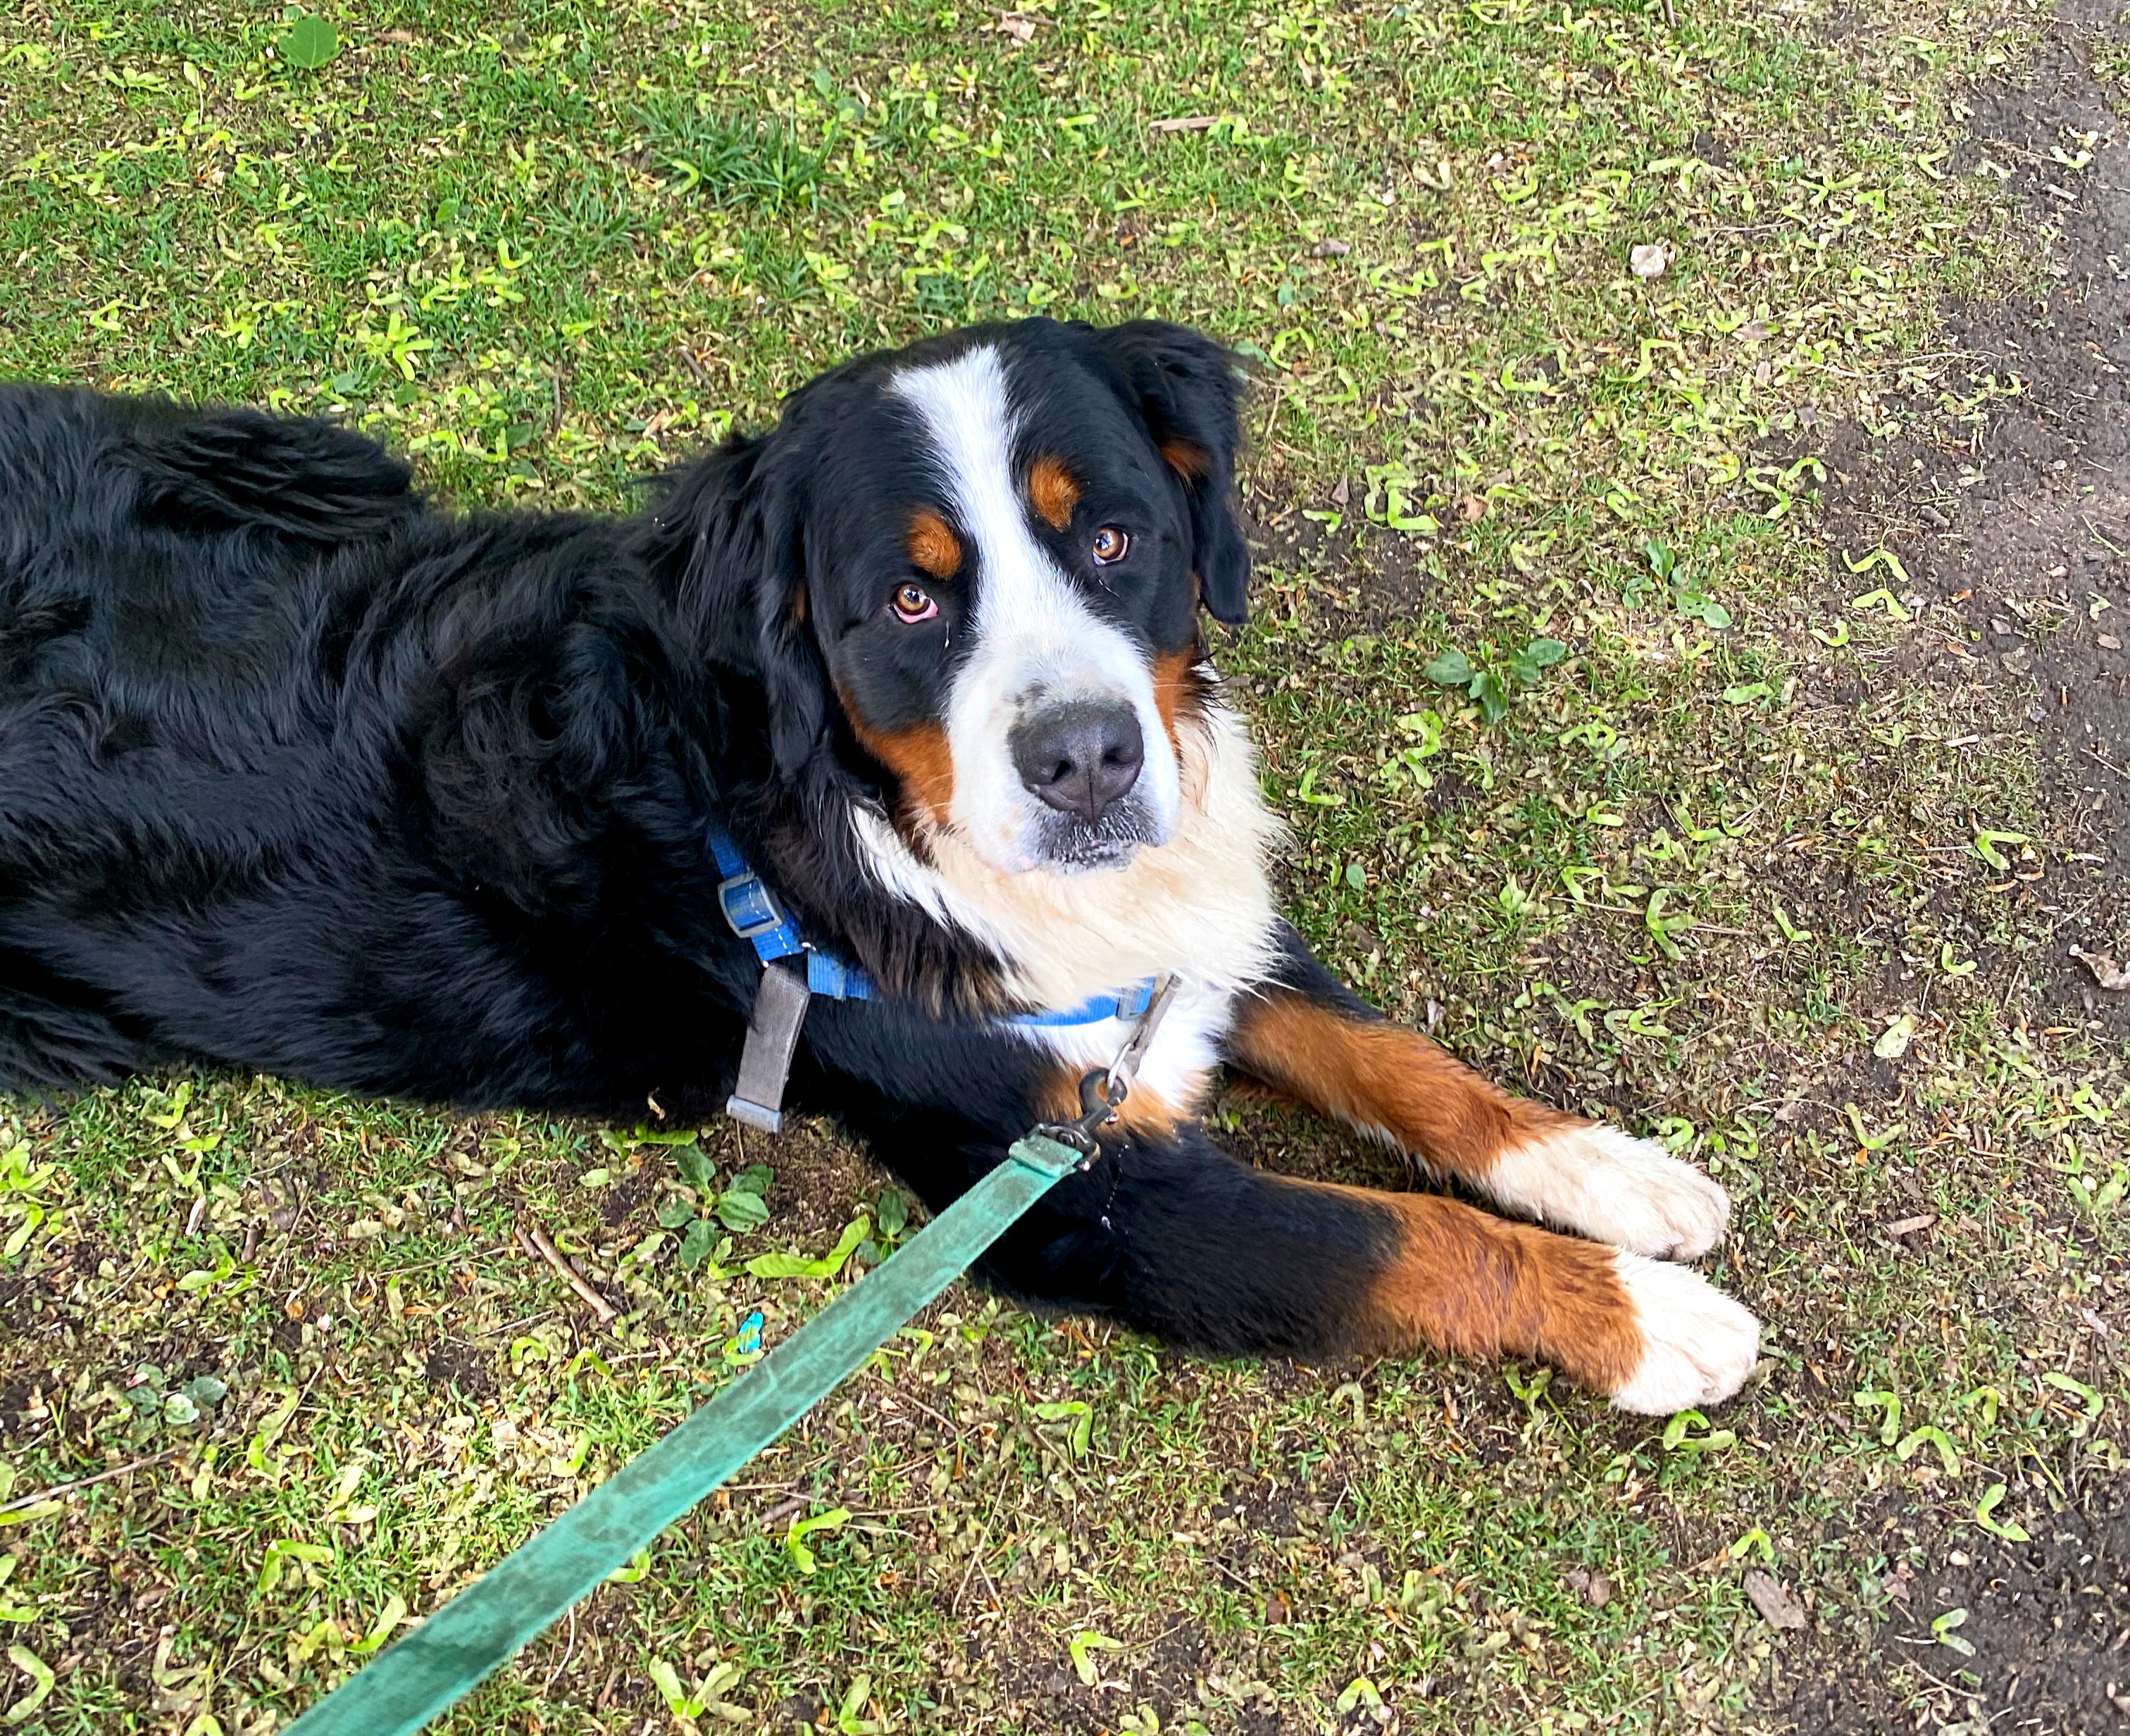
M 1730 1223 L 1721 1186 L 1617 1127 L 1568 1127 L 1506 1150 L 1485 1186 L 1544 1225 L 1651 1259 L 1698 1259 Z

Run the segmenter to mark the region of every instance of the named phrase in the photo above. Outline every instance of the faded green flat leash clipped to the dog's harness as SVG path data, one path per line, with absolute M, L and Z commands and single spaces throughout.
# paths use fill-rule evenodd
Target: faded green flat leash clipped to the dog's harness
M 1091 1076 L 1099 1078 L 1101 1074 Z M 1125 1084 L 1118 1069 L 1110 1078 Z M 1123 1088 L 1108 1101 L 1118 1099 Z M 458 1704 L 571 1604 L 590 1595 L 607 1574 L 650 1546 L 667 1525 L 820 1404 L 1084 1161 L 1086 1154 L 1048 1133 L 1029 1133 L 1007 1152 L 1005 1163 L 875 1272 L 843 1291 L 545 1532 L 505 1555 L 405 1640 L 332 1689 L 296 1719 L 288 1736 L 413 1736 Z

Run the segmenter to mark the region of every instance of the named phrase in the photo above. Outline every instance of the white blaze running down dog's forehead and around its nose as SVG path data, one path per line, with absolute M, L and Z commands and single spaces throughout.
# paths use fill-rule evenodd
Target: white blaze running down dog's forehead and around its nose
M 1022 786 L 1007 737 L 1037 701 L 1120 699 L 1137 714 L 1146 743 L 1137 792 L 1152 818 L 1148 844 L 1165 844 L 1180 780 L 1152 675 L 1144 654 L 1080 601 L 1029 530 L 999 351 L 980 345 L 912 369 L 892 390 L 922 417 L 961 530 L 976 545 L 976 648 L 946 711 L 952 826 L 993 867 L 1037 869 L 1033 835 L 1044 809 Z

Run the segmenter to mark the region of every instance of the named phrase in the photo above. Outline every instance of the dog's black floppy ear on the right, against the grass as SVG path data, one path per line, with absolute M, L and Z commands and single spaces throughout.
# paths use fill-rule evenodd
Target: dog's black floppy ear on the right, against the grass
M 1248 616 L 1250 547 L 1235 522 L 1235 441 L 1242 362 L 1203 332 L 1133 320 L 1097 332 L 1125 371 L 1129 396 L 1182 479 L 1191 503 L 1193 569 L 1214 620 Z

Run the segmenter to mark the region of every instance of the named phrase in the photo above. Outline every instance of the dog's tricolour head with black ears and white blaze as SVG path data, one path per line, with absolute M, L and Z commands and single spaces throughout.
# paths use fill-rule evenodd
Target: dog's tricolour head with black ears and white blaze
M 748 479 L 780 769 L 856 750 L 905 826 L 1012 873 L 1165 844 L 1197 609 L 1244 616 L 1238 392 L 1180 326 L 1048 320 L 799 392 Z

